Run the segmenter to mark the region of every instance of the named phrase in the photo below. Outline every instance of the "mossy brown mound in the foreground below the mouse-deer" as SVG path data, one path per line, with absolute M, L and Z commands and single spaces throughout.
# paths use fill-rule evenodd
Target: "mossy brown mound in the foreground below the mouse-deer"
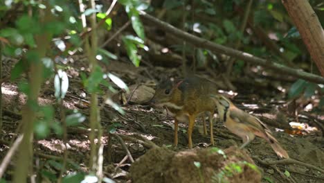
M 132 182 L 261 182 L 262 173 L 244 151 L 231 147 L 175 153 L 153 148 L 130 168 Z

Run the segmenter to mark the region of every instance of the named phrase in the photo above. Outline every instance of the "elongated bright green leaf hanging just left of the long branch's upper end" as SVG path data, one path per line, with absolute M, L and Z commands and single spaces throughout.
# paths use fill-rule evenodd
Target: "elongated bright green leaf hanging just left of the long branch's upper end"
M 138 10 L 131 6 L 126 6 L 125 10 L 128 14 L 129 19 L 132 21 L 133 29 L 138 37 L 141 37 L 142 40 L 145 40 L 144 26 L 139 18 Z

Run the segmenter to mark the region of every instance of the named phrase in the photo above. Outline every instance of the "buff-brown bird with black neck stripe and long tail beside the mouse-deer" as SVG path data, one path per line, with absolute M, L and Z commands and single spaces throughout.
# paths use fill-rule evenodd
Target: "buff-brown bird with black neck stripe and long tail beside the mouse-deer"
M 278 141 L 272 136 L 267 125 L 262 123 L 260 119 L 237 108 L 231 101 L 222 95 L 211 95 L 217 104 L 217 110 L 220 119 L 225 123 L 226 128 L 241 137 L 243 144 L 240 148 L 244 148 L 255 138 L 255 135 L 262 137 L 270 143 L 273 150 L 279 157 L 289 158 L 286 150 L 284 150 Z

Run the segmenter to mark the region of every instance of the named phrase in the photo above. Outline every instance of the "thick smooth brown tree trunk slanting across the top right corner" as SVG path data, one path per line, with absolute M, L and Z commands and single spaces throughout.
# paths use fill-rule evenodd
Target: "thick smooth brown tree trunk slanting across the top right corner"
M 282 0 L 289 16 L 299 30 L 312 60 L 324 76 L 324 30 L 307 0 Z

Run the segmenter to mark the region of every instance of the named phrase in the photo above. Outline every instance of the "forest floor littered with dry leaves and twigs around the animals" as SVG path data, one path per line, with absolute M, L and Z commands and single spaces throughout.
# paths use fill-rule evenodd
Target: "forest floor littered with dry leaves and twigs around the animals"
M 87 68 L 86 63 L 82 62 L 82 59 L 78 59 L 78 62 L 75 61 L 75 67 L 67 70 L 70 87 L 64 99 L 64 106 L 69 110 L 78 109 L 85 116 L 89 116 L 89 96 L 81 97 L 86 91 L 80 84 L 79 76 L 82 67 Z M 12 67 L 13 64 L 7 61 L 3 65 Z M 10 70 L 10 68 L 5 69 L 5 71 Z M 140 83 L 152 83 L 153 79 L 159 80 L 161 76 L 179 77 L 180 73 L 177 69 L 163 67 L 147 66 L 136 68 L 127 62 L 111 62 L 107 70 L 115 73 L 129 86 L 136 86 Z M 5 72 L 3 74 L 8 76 L 9 73 Z M 198 71 L 197 75 L 215 80 L 215 78 L 208 77 L 210 73 L 206 71 Z M 246 78 L 246 80 L 254 79 Z M 278 139 L 291 158 L 316 166 L 317 168 L 322 168 L 323 170 L 324 139 L 323 131 L 321 131 L 324 125 L 323 113 L 321 116 L 313 112 L 304 111 L 300 112 L 298 117 L 289 116 L 289 110 L 287 110 L 287 103 L 289 101 L 285 94 L 276 87 L 278 86 L 278 81 L 273 82 L 267 78 L 259 78 L 255 82 L 244 82 L 242 80 L 237 82 L 234 80 L 233 85 L 237 87 L 237 91 L 240 91 L 232 99 L 233 103 L 242 110 L 258 116 L 264 123 L 267 123 L 273 132 L 273 136 Z M 284 89 L 288 88 L 288 86 L 285 86 L 285 83 L 280 82 L 279 85 L 282 85 Z M 21 121 L 21 114 L 19 112 L 26 101 L 26 96 L 21 94 L 17 88 L 17 82 L 4 82 L 2 84 L 3 133 L 1 135 L 2 145 L 0 146 L 1 159 L 6 155 L 12 139 L 17 137 L 17 129 L 19 129 L 19 122 Z M 39 103 L 41 105 L 55 103 L 53 82 L 49 81 L 43 85 Z M 102 103 L 102 98 L 100 98 L 100 103 Z M 134 159 L 145 155 L 153 146 L 163 146 L 176 152 L 188 150 L 186 123 L 180 124 L 179 145 L 177 148 L 173 148 L 173 119 L 166 115 L 163 109 L 136 104 L 123 105 L 122 108 L 125 110 L 125 115 L 118 114 L 109 105 L 105 105 L 100 111 L 101 124 L 104 129 L 102 143 L 105 144 L 103 171 L 107 177 L 112 177 L 116 182 L 127 182 L 130 179 L 129 168 L 132 166 L 132 162 L 126 159 L 127 154 L 123 146 L 120 145 L 118 137 L 122 137 L 125 141 Z M 57 120 L 60 119 L 59 112 L 56 112 L 56 117 Z M 291 128 L 289 122 L 296 122 L 297 128 Z M 115 134 L 118 137 L 114 136 L 116 138 L 113 138 L 111 144 L 108 144 L 108 129 L 111 128 L 112 124 L 116 126 Z M 218 119 L 214 124 L 215 147 L 220 149 L 233 146 L 240 147 L 242 141 L 239 137 L 229 132 Z M 75 162 L 75 164 L 79 164 L 84 171 L 88 170 L 87 164 L 89 162 L 87 128 L 89 128 L 89 123 L 86 120 L 82 125 L 68 130 L 69 159 Z M 207 148 L 209 146 L 210 137 L 202 133 L 200 118 L 197 119 L 192 138 L 194 149 Z M 109 146 L 111 151 L 109 151 Z M 35 158 L 41 159 L 43 162 L 42 166 L 56 175 L 60 171 L 55 167 L 53 158 L 57 157 L 56 160 L 60 159 L 63 155 L 63 150 L 62 137 L 58 137 L 55 134 L 51 134 L 46 139 L 35 141 Z M 311 166 L 291 164 L 290 162 L 276 164 L 276 161 L 279 160 L 276 153 L 273 152 L 271 146 L 266 141 L 258 137 L 246 146 L 244 152 L 250 155 L 255 164 L 262 169 L 264 177 L 262 182 L 324 182 L 324 173 Z M 154 159 L 148 161 L 151 162 L 138 166 L 137 171 L 141 171 L 141 169 L 145 169 L 147 166 L 150 166 L 151 169 L 159 169 L 160 164 L 154 162 Z M 271 162 L 273 164 L 270 164 Z M 187 165 L 183 164 L 182 166 L 186 167 Z M 11 164 L 10 168 L 13 168 L 13 164 Z M 39 167 L 35 166 L 35 170 L 37 168 Z M 10 173 L 6 177 L 10 177 Z

